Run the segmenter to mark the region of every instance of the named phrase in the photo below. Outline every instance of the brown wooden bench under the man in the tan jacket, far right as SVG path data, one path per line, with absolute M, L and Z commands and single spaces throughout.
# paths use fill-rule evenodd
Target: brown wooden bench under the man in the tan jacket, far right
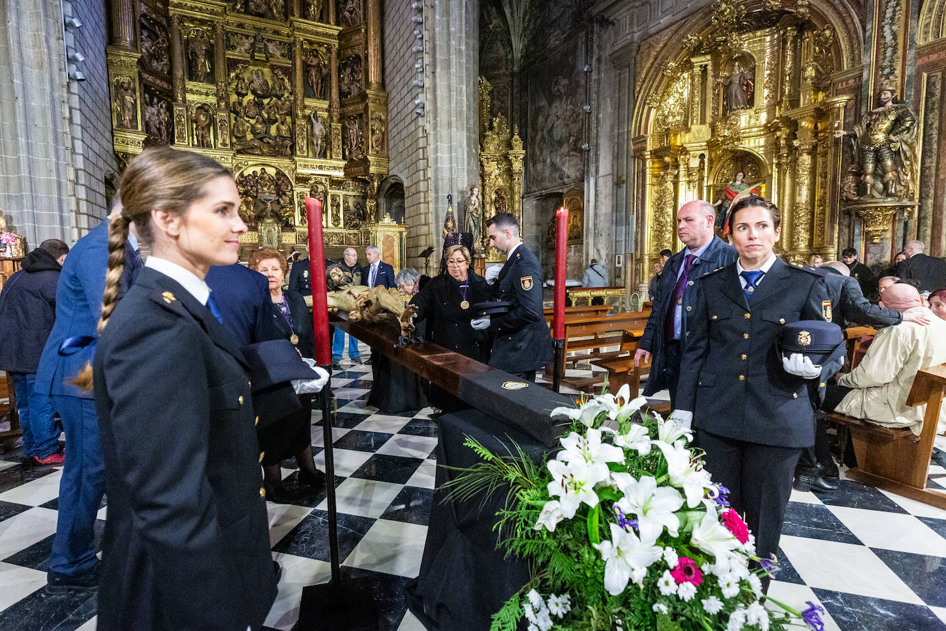
M 848 477 L 946 510 L 946 493 L 926 487 L 944 395 L 946 363 L 917 373 L 906 404 L 926 404 L 919 436 L 910 429 L 885 428 L 837 412 L 825 414 L 826 421 L 850 431 L 857 466 L 848 469 Z

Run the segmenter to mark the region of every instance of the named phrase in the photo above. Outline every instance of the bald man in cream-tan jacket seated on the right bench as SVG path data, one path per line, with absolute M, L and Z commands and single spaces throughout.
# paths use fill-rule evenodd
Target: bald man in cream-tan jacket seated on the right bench
M 828 386 L 821 409 L 888 428 L 909 428 L 919 436 L 926 406 L 908 407 L 906 396 L 920 369 L 946 362 L 946 320 L 932 317 L 920 292 L 905 283 L 887 289 L 882 305 L 904 315 L 925 313 L 931 322 L 903 322 L 878 331 L 861 363 L 837 377 L 836 386 Z M 939 414 L 937 433 L 944 429 L 946 408 Z

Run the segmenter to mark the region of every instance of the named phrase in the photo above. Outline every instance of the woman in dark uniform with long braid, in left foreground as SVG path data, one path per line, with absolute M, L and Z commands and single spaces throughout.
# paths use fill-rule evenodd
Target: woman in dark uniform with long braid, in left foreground
M 259 628 L 275 598 L 247 366 L 203 278 L 246 225 L 230 171 L 147 149 L 121 181 L 94 360 L 109 498 L 99 629 Z M 133 223 L 151 247 L 118 300 Z

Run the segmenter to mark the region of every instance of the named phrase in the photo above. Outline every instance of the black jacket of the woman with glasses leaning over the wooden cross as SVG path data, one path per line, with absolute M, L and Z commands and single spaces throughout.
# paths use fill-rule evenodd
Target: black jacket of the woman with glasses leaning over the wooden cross
M 469 281 L 466 302 L 469 305 L 482 303 L 487 297 L 486 280 L 472 270 L 466 274 Z M 439 274 L 414 294 L 411 304 L 417 307 L 417 322 L 430 323 L 430 342 L 485 362 L 489 359 L 487 334 L 470 326 L 472 309 L 460 306 L 464 300 L 462 285 L 448 273 Z

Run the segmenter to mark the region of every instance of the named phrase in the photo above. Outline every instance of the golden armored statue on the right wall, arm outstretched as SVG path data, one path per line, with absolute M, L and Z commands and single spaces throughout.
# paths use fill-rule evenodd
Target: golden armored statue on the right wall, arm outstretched
M 850 136 L 853 142 L 863 198 L 906 199 L 917 184 L 917 117 L 908 106 L 894 101 L 895 94 L 893 88 L 881 90 L 880 107 L 850 131 L 834 131 L 835 138 Z

